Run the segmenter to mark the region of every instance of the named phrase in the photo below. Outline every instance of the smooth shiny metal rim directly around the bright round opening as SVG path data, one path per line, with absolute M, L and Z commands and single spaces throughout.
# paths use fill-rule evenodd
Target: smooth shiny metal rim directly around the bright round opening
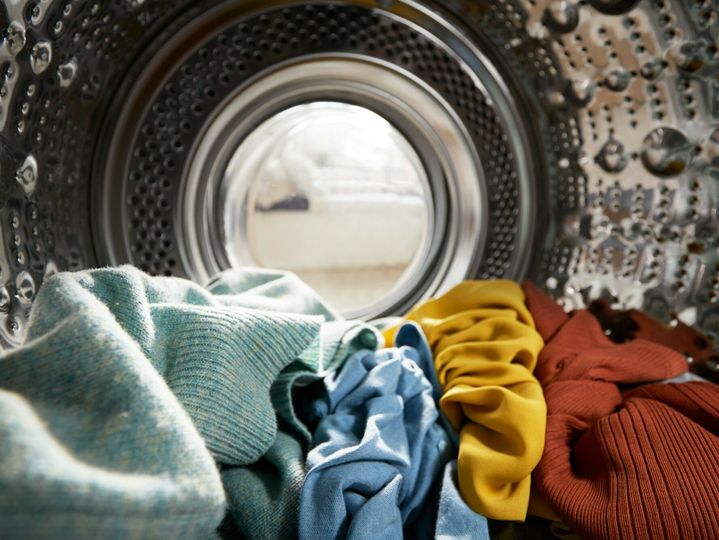
M 435 216 L 420 264 L 381 301 L 344 315 L 362 318 L 391 313 L 405 308 L 408 298 L 414 301 L 434 294 L 448 280 L 464 279 L 471 273 L 484 246 L 487 198 L 469 134 L 449 104 L 419 80 L 376 59 L 342 55 L 304 58 L 276 67 L 239 89 L 208 123 L 189 160 L 181 196 L 183 257 L 201 279 L 231 266 L 224 240 L 218 242 L 224 231 L 217 217 L 223 214 L 222 201 L 227 197 L 224 173 L 241 142 L 265 120 L 294 105 L 336 101 L 338 96 L 383 116 L 422 155 Z

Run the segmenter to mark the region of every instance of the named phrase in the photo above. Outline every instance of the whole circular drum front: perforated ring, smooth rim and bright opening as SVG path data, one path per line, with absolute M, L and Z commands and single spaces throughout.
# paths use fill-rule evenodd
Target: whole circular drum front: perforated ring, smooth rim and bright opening
M 103 258 L 286 269 L 347 318 L 523 275 L 544 195 L 514 81 L 441 12 L 396 7 L 228 0 L 163 42 L 103 139 Z M 320 19 L 337 32 L 301 31 Z

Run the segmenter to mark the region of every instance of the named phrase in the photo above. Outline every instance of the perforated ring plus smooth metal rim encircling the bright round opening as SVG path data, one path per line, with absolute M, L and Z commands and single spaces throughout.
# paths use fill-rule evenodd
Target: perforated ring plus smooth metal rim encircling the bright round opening
M 435 207 L 434 222 L 428 224 L 432 243 L 424 265 L 408 276 L 403 287 L 373 303 L 371 309 L 353 310 L 352 316 L 403 311 L 480 270 L 498 276 L 518 273 L 526 265 L 531 253 L 527 231 L 535 210 L 532 189 L 521 189 L 521 185 L 534 186 L 536 180 L 528 177 L 532 163 L 519 159 L 529 151 L 518 127 L 524 120 L 513 108 L 511 96 L 497 90 L 500 81 L 488 79 L 496 75 L 491 65 L 472 56 L 473 49 L 462 48 L 464 38 L 450 34 L 448 23 L 439 14 L 408 4 L 397 6 L 400 17 L 358 5 L 298 7 L 290 3 L 260 16 L 238 17 L 242 21 L 239 26 L 230 26 L 230 15 L 218 9 L 185 29 L 190 33 L 199 27 L 214 27 L 219 21 L 221 28 L 229 26 L 217 29 L 194 55 L 176 50 L 188 42 L 178 35 L 157 52 L 124 99 L 120 124 L 113 126 L 100 229 L 113 263 L 131 261 L 152 272 L 175 273 L 179 268 L 199 281 L 232 266 L 217 219 L 223 212 L 220 199 L 225 196 L 221 176 L 231 155 L 254 128 L 283 110 L 339 99 L 377 112 L 407 137 L 424 161 Z M 317 35 L 300 32 L 314 20 L 323 21 L 325 29 L 336 27 L 338 34 L 329 34 L 328 42 L 322 43 Z M 263 36 L 241 39 L 248 28 L 260 22 Z M 419 22 L 427 26 L 420 27 Z M 287 27 L 298 32 L 295 38 L 276 33 L 277 28 Z M 337 51 L 341 47 L 332 43 L 332 36 L 339 35 L 343 27 L 352 52 Z M 443 32 L 447 34 L 444 40 L 435 35 Z M 276 39 L 273 47 L 262 39 L 265 34 Z M 387 47 L 390 41 L 385 39 L 391 40 L 393 47 Z M 211 80 L 202 79 L 202 74 L 211 71 L 207 67 L 212 66 L 209 50 L 215 43 L 216 51 L 228 44 L 252 44 L 237 53 L 230 49 L 228 54 L 230 58 L 237 54 L 237 69 L 246 72 L 244 77 L 237 85 L 205 89 L 200 102 L 185 98 L 184 90 L 189 93 Z M 274 58 L 256 52 L 255 43 L 260 49 L 264 43 Z M 410 56 L 412 47 L 417 47 L 416 59 Z M 256 63 L 252 71 L 248 55 Z M 473 59 L 482 69 L 473 69 L 464 58 Z M 438 77 L 437 70 L 445 73 L 444 77 Z M 164 78 L 164 89 L 149 94 L 149 81 L 160 78 Z M 217 79 L 222 81 L 223 74 Z M 496 95 L 485 88 L 485 80 Z M 183 101 L 193 103 L 192 107 L 184 117 L 173 117 L 177 102 Z M 205 103 L 208 101 L 211 104 Z M 458 105 L 464 110 L 458 110 Z M 195 120 L 194 125 L 188 117 Z M 188 124 L 186 143 L 177 130 L 171 132 L 178 121 Z M 513 146 L 516 141 L 522 145 Z M 162 163 L 173 151 L 182 154 L 184 165 L 174 173 L 153 168 L 152 162 Z M 499 204 L 494 206 L 487 197 L 488 176 L 501 182 L 495 190 Z M 128 182 L 133 178 L 138 181 L 134 187 Z M 153 195 L 153 185 L 158 182 L 168 187 L 167 196 L 161 191 Z M 118 200 L 128 199 L 129 207 L 117 205 Z M 143 220 L 142 215 L 137 219 L 135 214 L 142 212 L 138 205 L 157 208 L 158 204 L 164 205 L 172 220 L 159 216 L 155 221 Z M 179 208 L 183 213 L 178 220 L 171 214 Z M 167 224 L 159 233 L 158 222 Z M 118 227 L 118 223 L 123 225 Z M 128 235 L 132 231 L 136 231 L 134 239 Z M 163 245 L 159 258 L 152 247 L 143 249 L 142 240 L 155 234 L 165 235 L 170 243 Z M 492 256 L 484 257 L 491 237 L 495 240 Z

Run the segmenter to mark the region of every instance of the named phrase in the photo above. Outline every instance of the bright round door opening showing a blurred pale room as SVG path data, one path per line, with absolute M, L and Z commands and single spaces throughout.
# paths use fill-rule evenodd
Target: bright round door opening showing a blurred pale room
M 223 184 L 232 266 L 291 270 L 348 316 L 416 284 L 432 243 L 429 181 L 375 112 L 327 101 L 282 111 L 242 141 Z

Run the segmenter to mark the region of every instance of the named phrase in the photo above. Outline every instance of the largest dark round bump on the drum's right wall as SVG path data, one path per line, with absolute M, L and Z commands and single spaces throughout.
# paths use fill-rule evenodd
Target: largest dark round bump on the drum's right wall
M 693 156 L 694 145 L 681 131 L 669 127 L 653 130 L 642 143 L 642 163 L 659 177 L 678 176 L 689 167 Z

